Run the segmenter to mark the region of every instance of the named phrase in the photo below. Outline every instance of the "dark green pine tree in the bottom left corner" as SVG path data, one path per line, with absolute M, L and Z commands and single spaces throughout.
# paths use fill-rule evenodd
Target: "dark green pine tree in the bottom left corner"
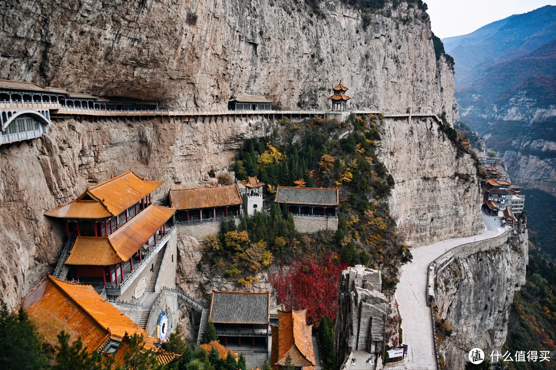
M 47 358 L 37 331 L 23 308 L 8 312 L 6 304 L 0 308 L 0 369 L 46 368 Z

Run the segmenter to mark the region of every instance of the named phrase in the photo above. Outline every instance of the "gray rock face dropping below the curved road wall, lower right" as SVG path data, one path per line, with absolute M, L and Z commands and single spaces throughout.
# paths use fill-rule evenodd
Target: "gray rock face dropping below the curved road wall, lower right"
M 438 316 L 452 330 L 440 347 L 446 368 L 463 369 L 467 354 L 475 347 L 488 356 L 502 350 L 514 292 L 525 284 L 527 239 L 524 226 L 511 242 L 456 258 L 438 274 Z

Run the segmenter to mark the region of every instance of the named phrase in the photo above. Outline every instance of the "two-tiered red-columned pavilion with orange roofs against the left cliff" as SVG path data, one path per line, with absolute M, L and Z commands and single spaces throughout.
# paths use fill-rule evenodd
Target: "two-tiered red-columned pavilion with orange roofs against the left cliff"
M 128 171 L 46 211 L 63 219 L 67 244 L 54 272 L 120 296 L 168 241 L 175 208 L 152 204 L 161 181 Z M 140 271 L 137 272 L 136 270 Z M 134 273 L 135 272 L 135 273 Z

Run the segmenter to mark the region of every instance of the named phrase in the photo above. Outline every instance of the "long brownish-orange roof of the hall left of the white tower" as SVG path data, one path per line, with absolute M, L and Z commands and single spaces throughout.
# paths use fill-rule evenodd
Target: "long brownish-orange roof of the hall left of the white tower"
M 243 203 L 236 184 L 170 190 L 170 203 L 177 209 L 236 206 Z

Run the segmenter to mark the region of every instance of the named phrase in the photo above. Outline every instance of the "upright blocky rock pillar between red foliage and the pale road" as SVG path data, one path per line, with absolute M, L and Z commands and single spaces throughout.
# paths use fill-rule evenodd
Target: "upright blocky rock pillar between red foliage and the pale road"
M 386 297 L 381 288 L 382 279 L 378 270 L 356 265 L 342 271 L 334 331 L 338 366 L 353 351 L 375 356 L 384 352 Z M 373 362 L 376 363 L 376 357 Z

